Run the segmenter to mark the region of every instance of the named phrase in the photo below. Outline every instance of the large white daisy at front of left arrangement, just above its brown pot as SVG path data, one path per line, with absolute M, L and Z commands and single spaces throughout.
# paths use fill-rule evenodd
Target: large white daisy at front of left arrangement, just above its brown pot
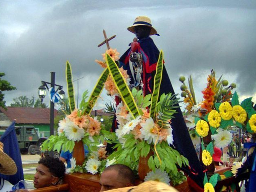
M 84 137 L 84 129 L 79 128 L 71 121 L 66 122 L 64 133 L 65 136 L 72 141 L 80 141 Z

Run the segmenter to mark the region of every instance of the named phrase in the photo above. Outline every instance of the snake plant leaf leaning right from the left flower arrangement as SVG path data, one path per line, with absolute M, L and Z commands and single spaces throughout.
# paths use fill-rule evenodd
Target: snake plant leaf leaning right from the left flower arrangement
M 104 83 L 106 82 L 108 76 L 109 76 L 109 70 L 105 68 L 105 70 L 100 75 L 100 78 L 98 79 L 94 89 L 92 90 L 92 94 L 90 95 L 90 98 L 86 103 L 87 105 L 85 107 L 85 111 L 83 112 L 83 114 L 90 115 L 92 108 L 94 107 L 98 99 L 98 96 L 101 94 L 103 90 Z

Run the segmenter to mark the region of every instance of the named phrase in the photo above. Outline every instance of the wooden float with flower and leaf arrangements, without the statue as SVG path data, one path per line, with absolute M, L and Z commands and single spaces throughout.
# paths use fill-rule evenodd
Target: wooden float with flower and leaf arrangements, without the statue
M 106 35 L 105 39 L 107 42 Z M 109 45 L 103 60 L 105 62 L 96 60 L 105 69 L 87 101 L 88 92 L 83 94 L 79 109 L 75 108 L 71 66 L 69 62 L 66 63 L 71 111 L 59 122 L 58 135 L 45 141 L 43 150 L 73 151 L 71 168 L 67 170 L 64 184 L 34 191 L 99 191 L 99 174 L 106 166 L 117 163 L 130 166 L 138 175 L 137 184 L 157 180 L 179 191 L 203 191 L 203 188 L 207 192 L 240 191 L 238 182 L 249 178 L 250 172 L 255 172 L 255 166 L 254 169 L 252 166 L 255 164 L 255 147 L 248 146 L 250 152 L 247 163 L 237 164 L 230 171 L 229 167 L 214 165 L 213 146 L 228 145 L 229 126 L 238 126 L 255 136 L 256 112 L 252 107 L 252 98 L 240 103 L 237 93 L 232 93 L 235 85 L 225 87 L 227 83 L 221 78 L 217 81 L 212 70 L 207 78 L 207 88 L 203 91 L 205 100 L 199 106 L 195 102 L 192 78 L 189 78 L 188 87 L 185 79 L 180 78 L 183 83 L 181 95 L 185 97 L 184 102 L 188 103 L 188 127 L 192 135 L 201 138 L 201 164 L 198 166 L 202 166 L 204 177 L 201 178 L 203 186 L 200 188 L 190 179 L 198 173 L 191 169 L 188 159 L 176 150 L 177 146 L 173 143 L 171 122 L 179 107 L 179 98 L 171 93 L 160 95 L 163 52 L 160 51 L 156 65 L 154 90 L 147 95 L 136 88 L 130 90 L 130 77 L 126 70 L 117 66 L 118 53 Z M 118 123 L 115 132 L 104 130 L 100 122 L 90 115 L 104 87 L 109 95 L 118 98 L 118 103 L 111 105 L 115 108 Z M 105 142 L 114 144 L 115 150 L 108 156 L 105 147 L 98 147 Z M 90 151 L 87 157 L 84 155 L 84 144 Z

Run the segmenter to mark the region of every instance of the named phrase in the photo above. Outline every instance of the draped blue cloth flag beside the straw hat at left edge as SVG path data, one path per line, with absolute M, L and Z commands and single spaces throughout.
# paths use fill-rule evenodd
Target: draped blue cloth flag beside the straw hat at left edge
M 15 175 L 0 174 L 0 177 L 15 185 L 20 180 L 24 180 L 19 144 L 15 132 L 15 121 L 6 129 L 0 141 L 4 144 L 4 153 L 9 155 L 17 165 L 17 173 Z

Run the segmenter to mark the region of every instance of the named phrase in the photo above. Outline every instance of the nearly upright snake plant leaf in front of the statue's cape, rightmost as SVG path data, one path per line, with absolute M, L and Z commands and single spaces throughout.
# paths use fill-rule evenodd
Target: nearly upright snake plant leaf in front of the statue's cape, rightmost
M 160 85 L 162 81 L 162 73 L 163 73 L 163 67 L 164 67 L 164 62 L 163 62 L 163 51 L 160 51 L 158 62 L 156 64 L 156 75 L 154 77 L 154 90 L 152 92 L 152 97 L 151 97 L 151 106 L 150 106 L 150 117 L 154 119 L 156 115 L 156 104 L 158 102 L 158 97 L 159 97 L 159 92 L 160 92 Z

